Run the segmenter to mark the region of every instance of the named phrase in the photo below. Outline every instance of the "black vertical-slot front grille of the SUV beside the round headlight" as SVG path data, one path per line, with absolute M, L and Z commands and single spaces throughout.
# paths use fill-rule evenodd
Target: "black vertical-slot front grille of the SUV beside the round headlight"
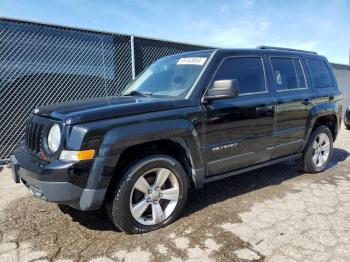
M 33 153 L 39 153 L 42 144 L 44 124 L 38 117 L 32 117 L 27 125 L 26 144 L 28 150 Z

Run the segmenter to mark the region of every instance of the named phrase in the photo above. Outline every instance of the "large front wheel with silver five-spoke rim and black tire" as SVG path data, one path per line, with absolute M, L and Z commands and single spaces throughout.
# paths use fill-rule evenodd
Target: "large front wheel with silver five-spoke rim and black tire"
M 181 213 L 189 180 L 182 165 L 167 155 L 139 159 L 121 174 L 106 211 L 127 233 L 144 233 L 172 223 Z

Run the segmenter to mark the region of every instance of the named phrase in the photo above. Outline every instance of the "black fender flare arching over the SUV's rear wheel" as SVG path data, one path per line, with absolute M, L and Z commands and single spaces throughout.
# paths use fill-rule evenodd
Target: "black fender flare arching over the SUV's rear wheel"
M 327 116 L 327 115 L 335 115 L 337 117 L 337 125 L 339 126 L 340 121 L 340 115 L 339 115 L 339 108 L 337 103 L 332 102 L 332 103 L 322 103 L 322 104 L 317 104 L 314 105 L 310 110 L 309 110 L 309 115 L 306 121 L 306 128 L 305 128 L 305 133 L 304 133 L 304 141 L 305 144 L 307 143 L 311 131 L 315 125 L 316 120 L 321 117 L 321 116 Z M 338 128 L 336 128 L 336 132 L 338 132 Z

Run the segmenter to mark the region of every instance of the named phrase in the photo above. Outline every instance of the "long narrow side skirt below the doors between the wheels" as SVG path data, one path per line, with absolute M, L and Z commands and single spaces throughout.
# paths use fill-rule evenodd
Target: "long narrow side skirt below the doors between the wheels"
M 217 181 L 217 180 L 220 180 L 220 179 L 228 178 L 228 177 L 231 177 L 231 176 L 239 175 L 239 174 L 242 174 L 242 173 L 245 173 L 245 172 L 249 172 L 249 171 L 261 168 L 261 167 L 271 166 L 271 165 L 274 165 L 274 164 L 277 164 L 277 163 L 280 163 L 280 162 L 301 158 L 302 155 L 303 155 L 302 153 L 289 155 L 289 156 L 277 158 L 277 159 L 274 159 L 274 160 L 270 160 L 270 161 L 267 161 L 267 162 L 263 162 L 263 163 L 260 163 L 260 164 L 256 164 L 256 165 L 253 165 L 253 166 L 248 166 L 248 167 L 244 167 L 244 168 L 237 169 L 237 170 L 234 170 L 234 171 L 230 171 L 230 172 L 227 172 L 227 173 L 223 173 L 223 174 L 219 174 L 219 175 L 215 175 L 215 176 L 210 176 L 210 177 L 207 177 L 207 178 L 204 179 L 204 184 L 210 183 L 210 182 L 213 182 L 213 181 Z

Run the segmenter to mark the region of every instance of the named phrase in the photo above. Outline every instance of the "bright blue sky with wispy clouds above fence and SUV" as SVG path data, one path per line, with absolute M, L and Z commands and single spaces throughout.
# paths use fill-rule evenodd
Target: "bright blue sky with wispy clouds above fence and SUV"
M 349 0 L 0 0 L 0 15 L 214 47 L 305 49 L 349 63 Z

